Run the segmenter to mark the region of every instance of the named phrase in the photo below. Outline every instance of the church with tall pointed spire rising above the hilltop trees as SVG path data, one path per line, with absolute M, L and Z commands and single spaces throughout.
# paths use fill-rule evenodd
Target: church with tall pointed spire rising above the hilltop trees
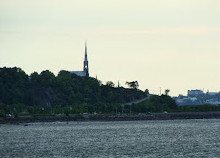
M 89 65 L 87 58 L 87 45 L 85 43 L 85 58 L 83 63 L 83 71 L 70 71 L 71 74 L 76 74 L 77 76 L 86 77 L 89 76 Z

